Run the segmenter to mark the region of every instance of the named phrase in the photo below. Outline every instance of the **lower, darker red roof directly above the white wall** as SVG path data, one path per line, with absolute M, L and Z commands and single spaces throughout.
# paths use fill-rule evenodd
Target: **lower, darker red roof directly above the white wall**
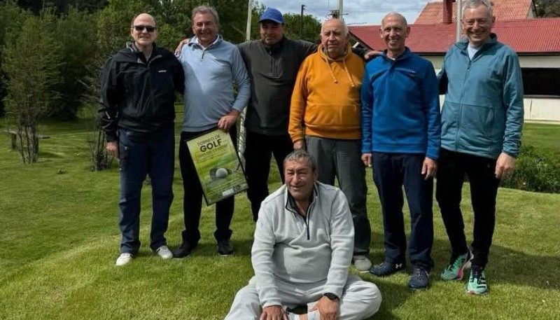
M 352 36 L 370 48 L 385 48 L 379 25 L 349 26 Z M 496 21 L 492 32 L 517 53 L 560 53 L 560 18 Z M 411 25 L 406 45 L 414 53 L 446 53 L 455 42 L 455 24 Z

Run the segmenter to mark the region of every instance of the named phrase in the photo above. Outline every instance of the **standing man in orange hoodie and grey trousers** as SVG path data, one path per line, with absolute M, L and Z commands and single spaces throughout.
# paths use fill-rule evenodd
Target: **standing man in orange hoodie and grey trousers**
M 356 230 L 353 263 L 358 271 L 371 267 L 367 186 L 360 160 L 363 74 L 364 62 L 348 43 L 348 27 L 338 19 L 324 22 L 321 45 L 297 74 L 288 126 L 294 149 L 307 148 L 316 158 L 318 180 L 333 185 L 336 177 L 348 198 Z

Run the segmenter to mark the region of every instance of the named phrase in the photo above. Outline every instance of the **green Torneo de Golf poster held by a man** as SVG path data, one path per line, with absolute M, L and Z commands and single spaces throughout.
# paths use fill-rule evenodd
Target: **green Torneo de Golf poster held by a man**
M 230 134 L 216 129 L 185 141 L 207 205 L 248 188 Z

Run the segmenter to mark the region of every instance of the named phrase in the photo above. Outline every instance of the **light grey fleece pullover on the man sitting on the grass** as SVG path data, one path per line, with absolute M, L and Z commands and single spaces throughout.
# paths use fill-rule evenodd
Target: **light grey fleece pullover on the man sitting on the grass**
M 317 182 L 307 216 L 297 214 L 286 185 L 260 206 L 251 261 L 262 307 L 281 305 L 276 281 L 323 285 L 342 296 L 354 228 L 344 193 Z

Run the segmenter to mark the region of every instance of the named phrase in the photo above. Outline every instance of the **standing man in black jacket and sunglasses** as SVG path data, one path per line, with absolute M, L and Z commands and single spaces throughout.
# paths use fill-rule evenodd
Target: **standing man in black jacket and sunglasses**
M 175 90 L 183 92 L 183 67 L 169 51 L 155 46 L 158 29 L 151 15 L 132 20 L 134 41 L 113 55 L 104 68 L 99 118 L 106 149 L 119 159 L 119 228 L 123 237 L 116 265 L 139 251 L 140 194 L 151 177 L 153 216 L 150 247 L 172 258 L 165 231 L 173 200 Z

